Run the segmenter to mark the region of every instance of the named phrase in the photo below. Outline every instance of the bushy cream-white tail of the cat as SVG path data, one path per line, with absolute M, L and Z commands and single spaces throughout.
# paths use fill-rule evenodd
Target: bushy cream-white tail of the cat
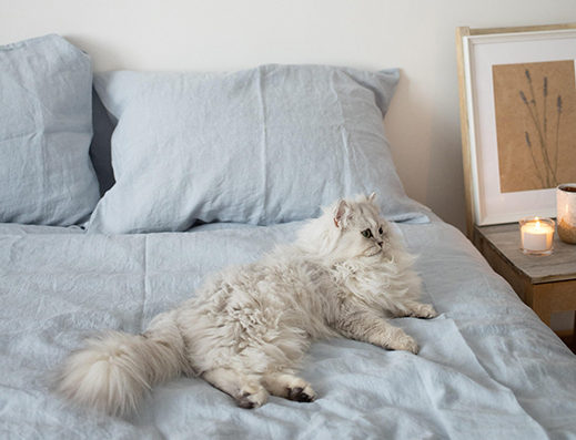
M 107 331 L 88 340 L 59 371 L 58 391 L 98 413 L 127 416 L 152 386 L 188 369 L 182 336 L 163 314 L 143 335 Z

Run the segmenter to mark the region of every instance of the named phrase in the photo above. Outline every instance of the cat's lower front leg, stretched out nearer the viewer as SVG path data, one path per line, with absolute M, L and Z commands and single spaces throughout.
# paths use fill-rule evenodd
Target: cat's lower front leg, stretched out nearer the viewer
M 345 301 L 334 327 L 350 339 L 370 342 L 388 350 L 418 352 L 416 340 L 394 327 L 376 310 Z

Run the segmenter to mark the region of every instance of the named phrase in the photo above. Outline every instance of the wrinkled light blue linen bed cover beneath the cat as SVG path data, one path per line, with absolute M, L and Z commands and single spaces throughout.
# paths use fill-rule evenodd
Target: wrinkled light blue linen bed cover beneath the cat
M 154 388 L 129 419 L 97 419 L 50 391 L 50 371 L 83 338 L 144 330 L 206 274 L 257 259 L 300 225 L 118 236 L 0 225 L 0 438 L 576 438 L 576 357 L 438 219 L 397 225 L 420 254 L 423 300 L 441 314 L 394 319 L 421 352 L 316 342 L 302 368 L 313 403 L 271 397 L 244 410 L 181 378 Z

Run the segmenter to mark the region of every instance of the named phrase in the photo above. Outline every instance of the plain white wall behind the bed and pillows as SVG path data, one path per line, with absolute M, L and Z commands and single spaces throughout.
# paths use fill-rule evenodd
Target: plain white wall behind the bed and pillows
M 576 22 L 574 0 L 0 0 L 0 44 L 55 32 L 97 71 L 330 63 L 402 79 L 386 119 L 413 198 L 464 229 L 454 29 Z

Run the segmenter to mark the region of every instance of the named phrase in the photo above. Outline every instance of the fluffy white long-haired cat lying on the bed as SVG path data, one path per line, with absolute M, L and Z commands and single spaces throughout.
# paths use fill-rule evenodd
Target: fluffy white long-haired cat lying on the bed
M 310 221 L 295 243 L 213 275 L 196 297 L 156 316 L 142 335 L 108 331 L 64 362 L 58 389 L 101 413 L 123 416 L 152 386 L 201 376 L 242 408 L 267 396 L 310 402 L 296 376 L 310 345 L 344 337 L 417 354 L 386 317 L 433 318 L 418 303 L 413 257 L 371 196 L 342 199 Z

